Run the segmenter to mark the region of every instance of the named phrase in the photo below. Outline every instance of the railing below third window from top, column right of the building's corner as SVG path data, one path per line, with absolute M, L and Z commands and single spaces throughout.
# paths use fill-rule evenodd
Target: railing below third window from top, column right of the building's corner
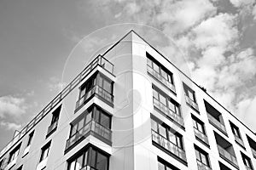
M 159 144 L 161 147 L 164 149 L 170 151 L 172 154 L 175 156 L 179 157 L 183 161 L 187 161 L 185 151 L 182 150 L 181 148 L 177 147 L 177 145 L 172 144 L 171 141 L 167 140 L 163 136 L 161 136 L 159 133 L 154 132 L 154 130 L 151 130 L 152 132 L 152 140 L 156 143 Z

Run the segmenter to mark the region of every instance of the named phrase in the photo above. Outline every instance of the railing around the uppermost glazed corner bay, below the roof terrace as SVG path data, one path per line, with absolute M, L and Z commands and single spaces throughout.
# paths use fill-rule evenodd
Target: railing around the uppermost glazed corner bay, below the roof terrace
M 101 99 L 106 100 L 109 104 L 113 104 L 113 95 L 109 94 L 108 91 L 101 88 L 100 86 L 94 86 L 90 89 L 89 92 L 84 94 L 76 103 L 76 109 L 78 109 L 81 105 L 84 105 L 84 103 L 90 99 L 92 95 L 96 95 L 97 97 L 100 97 Z

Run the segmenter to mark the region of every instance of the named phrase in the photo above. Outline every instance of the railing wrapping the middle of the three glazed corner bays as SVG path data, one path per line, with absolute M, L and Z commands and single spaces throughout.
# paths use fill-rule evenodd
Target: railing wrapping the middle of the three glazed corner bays
M 69 139 L 67 139 L 66 150 L 70 148 L 73 144 L 78 141 L 85 139 L 88 135 L 96 134 L 111 142 L 112 131 L 106 127 L 103 127 L 97 122 L 90 121 L 84 127 L 82 127 L 77 133 L 73 134 Z

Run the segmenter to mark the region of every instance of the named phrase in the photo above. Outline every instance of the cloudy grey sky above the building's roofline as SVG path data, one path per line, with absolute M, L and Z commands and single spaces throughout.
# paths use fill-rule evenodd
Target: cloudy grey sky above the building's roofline
M 1 0 L 0 149 L 131 28 L 256 132 L 254 0 Z

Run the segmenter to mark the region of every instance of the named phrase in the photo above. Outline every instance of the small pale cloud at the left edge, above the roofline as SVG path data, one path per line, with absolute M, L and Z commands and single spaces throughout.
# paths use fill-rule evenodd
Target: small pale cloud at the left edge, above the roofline
M 26 109 L 24 98 L 11 95 L 0 97 L 0 117 L 20 116 L 26 113 Z

